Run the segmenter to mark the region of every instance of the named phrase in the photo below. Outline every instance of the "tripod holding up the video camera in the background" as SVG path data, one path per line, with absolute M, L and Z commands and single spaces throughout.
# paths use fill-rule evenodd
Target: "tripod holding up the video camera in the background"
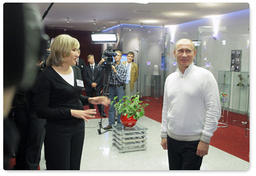
M 108 97 L 108 82 L 110 80 L 110 76 L 109 73 L 111 71 L 111 65 L 106 67 L 105 73 L 104 73 L 104 79 L 103 79 L 103 90 L 102 90 L 102 95 Z M 101 117 L 100 117 L 100 122 L 99 122 L 99 135 L 101 135 L 102 133 L 106 133 L 109 132 L 111 130 L 106 130 L 105 132 L 101 132 L 101 128 L 102 128 L 102 113 L 103 112 L 103 108 L 101 108 Z M 104 128 L 102 128 L 104 129 Z M 105 130 L 105 129 L 104 129 Z

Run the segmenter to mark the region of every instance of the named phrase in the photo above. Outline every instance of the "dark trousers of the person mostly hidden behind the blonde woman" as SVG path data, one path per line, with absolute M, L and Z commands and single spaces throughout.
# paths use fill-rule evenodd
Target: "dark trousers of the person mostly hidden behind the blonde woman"
M 45 119 L 38 119 L 36 112 L 30 112 L 26 170 L 38 170 L 41 148 L 45 139 L 45 122 Z

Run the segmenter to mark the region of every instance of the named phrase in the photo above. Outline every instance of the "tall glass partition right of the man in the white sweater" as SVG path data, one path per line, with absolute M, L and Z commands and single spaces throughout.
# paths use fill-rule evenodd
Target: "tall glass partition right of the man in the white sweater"
M 224 82 L 225 78 L 227 81 L 227 77 L 224 76 L 230 73 L 230 86 L 225 84 L 225 92 L 229 94 L 227 97 L 230 101 L 227 107 L 230 111 L 229 119 L 241 126 L 246 126 L 250 112 L 249 26 L 249 23 L 219 26 L 216 37 L 213 37 L 213 26 L 198 27 L 200 45 L 198 45 L 197 65 L 213 73 L 219 83 L 219 90 L 223 89 L 220 83 Z

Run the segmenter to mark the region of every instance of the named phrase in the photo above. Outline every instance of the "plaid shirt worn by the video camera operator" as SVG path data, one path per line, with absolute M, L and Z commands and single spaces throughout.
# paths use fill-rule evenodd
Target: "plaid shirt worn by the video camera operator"
M 113 85 L 125 84 L 126 76 L 127 76 L 126 66 L 124 64 L 122 64 L 121 62 L 118 65 L 115 64 L 114 66 L 115 66 L 115 70 L 117 70 L 117 74 L 115 74 L 115 72 L 111 68 L 109 83 L 113 84 Z M 106 65 L 98 64 L 98 70 L 100 70 L 100 71 L 106 70 Z

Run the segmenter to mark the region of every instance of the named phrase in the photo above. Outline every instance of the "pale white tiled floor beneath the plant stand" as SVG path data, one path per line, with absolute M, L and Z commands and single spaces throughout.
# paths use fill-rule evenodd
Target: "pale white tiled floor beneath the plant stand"
M 139 119 L 139 124 L 148 128 L 147 149 L 145 151 L 119 153 L 112 146 L 112 132 L 99 135 L 100 119 L 86 122 L 86 137 L 82 153 L 81 170 L 168 170 L 167 151 L 160 142 L 161 124 L 148 117 Z M 103 119 L 102 126 L 108 124 Z M 104 130 L 102 130 L 104 132 Z M 45 160 L 40 162 L 41 170 L 45 170 Z M 132 163 L 132 165 L 128 164 Z M 132 166 L 132 167 L 130 167 Z M 250 163 L 213 146 L 204 157 L 201 170 L 249 170 Z

